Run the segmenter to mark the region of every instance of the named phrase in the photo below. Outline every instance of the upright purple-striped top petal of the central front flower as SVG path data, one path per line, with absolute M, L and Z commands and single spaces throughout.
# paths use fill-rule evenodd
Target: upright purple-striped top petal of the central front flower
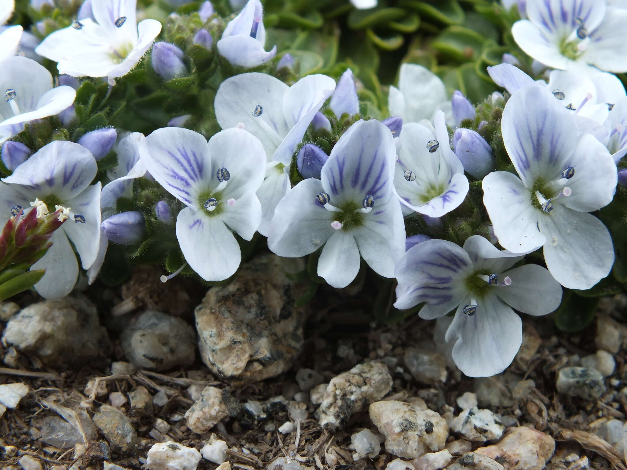
M 360 120 L 333 147 L 322 167 L 322 186 L 334 206 L 361 206 L 371 195 L 374 204 L 392 197 L 396 147 L 389 129 L 379 121 Z

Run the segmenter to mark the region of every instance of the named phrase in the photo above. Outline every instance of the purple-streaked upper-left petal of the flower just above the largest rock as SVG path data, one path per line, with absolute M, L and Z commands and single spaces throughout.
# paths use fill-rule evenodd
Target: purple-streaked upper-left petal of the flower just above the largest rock
M 146 169 L 172 196 L 187 206 L 198 207 L 198 196 L 208 189 L 213 169 L 208 145 L 198 132 L 164 127 L 144 139 L 139 149 Z

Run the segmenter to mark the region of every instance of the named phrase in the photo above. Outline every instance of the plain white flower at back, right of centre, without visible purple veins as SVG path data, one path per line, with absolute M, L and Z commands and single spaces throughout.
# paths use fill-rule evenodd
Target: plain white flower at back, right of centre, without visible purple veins
M 402 117 L 403 123 L 431 122 L 438 110 L 446 113 L 446 123 L 451 127 L 455 123 L 444 83 L 421 65 L 401 65 L 398 88 L 390 86 L 387 102 L 390 115 Z

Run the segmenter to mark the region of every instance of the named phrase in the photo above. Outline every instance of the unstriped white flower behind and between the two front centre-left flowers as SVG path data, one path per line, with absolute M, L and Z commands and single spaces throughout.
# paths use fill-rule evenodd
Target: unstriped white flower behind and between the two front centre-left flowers
M 243 125 L 266 150 L 266 176 L 257 193 L 263 209 L 259 226 L 263 236 L 268 235 L 278 201 L 290 189 L 292 155 L 334 90 L 335 81 L 325 75 L 308 75 L 287 86 L 273 76 L 254 72 L 228 78 L 218 88 L 214 102 L 218 124 L 223 129 Z

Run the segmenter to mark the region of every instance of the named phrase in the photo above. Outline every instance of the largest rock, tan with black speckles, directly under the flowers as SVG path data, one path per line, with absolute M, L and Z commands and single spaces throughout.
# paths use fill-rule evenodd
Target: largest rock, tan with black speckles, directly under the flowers
M 211 372 L 257 382 L 292 366 L 305 321 L 295 301 L 307 286 L 285 273 L 304 268 L 300 258 L 264 254 L 243 264 L 228 285 L 209 290 L 195 314 L 201 357 Z

